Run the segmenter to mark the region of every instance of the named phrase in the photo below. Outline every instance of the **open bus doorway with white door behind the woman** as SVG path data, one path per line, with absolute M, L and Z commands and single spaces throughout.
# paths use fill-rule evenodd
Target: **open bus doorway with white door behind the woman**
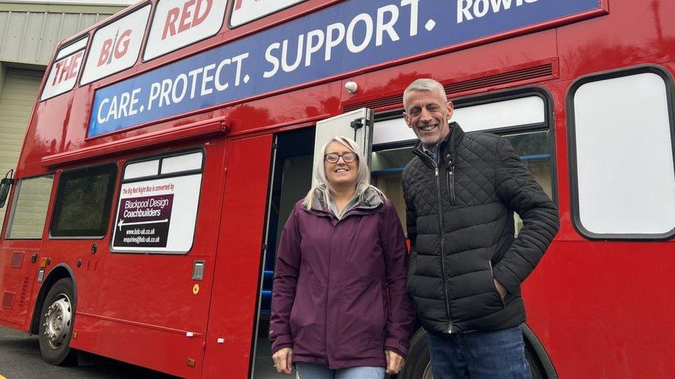
M 355 139 L 364 151 L 369 150 L 372 137 L 372 112 L 355 110 L 338 117 L 317 122 L 316 128 L 304 128 L 275 135 L 272 155 L 272 172 L 266 224 L 263 237 L 261 267 L 257 295 L 257 319 L 251 348 L 250 376 L 253 378 L 285 378 L 272 367 L 270 340 L 268 338 L 272 278 L 275 269 L 277 241 L 295 203 L 302 199 L 312 186 L 316 149 L 334 135 Z M 368 153 L 364 156 L 369 157 Z M 319 161 L 322 162 L 322 161 Z

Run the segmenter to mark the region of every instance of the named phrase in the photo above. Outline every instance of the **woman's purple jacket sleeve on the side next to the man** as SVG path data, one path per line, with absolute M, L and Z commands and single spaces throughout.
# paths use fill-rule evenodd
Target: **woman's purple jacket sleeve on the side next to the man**
M 389 316 L 385 349 L 407 358 L 410 337 L 415 324 L 412 301 L 405 292 L 408 255 L 398 213 L 394 204 L 385 200 L 385 211 L 380 226 L 380 240 L 385 255 Z

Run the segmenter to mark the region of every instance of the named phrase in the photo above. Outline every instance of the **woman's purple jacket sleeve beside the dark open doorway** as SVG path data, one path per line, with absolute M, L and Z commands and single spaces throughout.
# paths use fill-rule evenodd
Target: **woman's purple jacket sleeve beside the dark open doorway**
M 290 311 L 295 301 L 295 285 L 300 272 L 300 235 L 297 226 L 299 204 L 290 213 L 279 240 L 274 285 L 272 287 L 272 315 L 270 341 L 272 353 L 284 347 L 293 347 L 290 333 Z

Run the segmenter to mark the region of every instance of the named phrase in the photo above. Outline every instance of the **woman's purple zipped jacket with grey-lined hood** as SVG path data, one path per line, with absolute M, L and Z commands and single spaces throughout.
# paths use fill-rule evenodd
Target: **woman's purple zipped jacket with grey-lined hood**
M 277 251 L 272 353 L 331 369 L 386 367 L 407 357 L 415 315 L 405 291 L 407 249 L 394 205 L 368 188 L 338 220 L 324 202 L 297 202 Z

